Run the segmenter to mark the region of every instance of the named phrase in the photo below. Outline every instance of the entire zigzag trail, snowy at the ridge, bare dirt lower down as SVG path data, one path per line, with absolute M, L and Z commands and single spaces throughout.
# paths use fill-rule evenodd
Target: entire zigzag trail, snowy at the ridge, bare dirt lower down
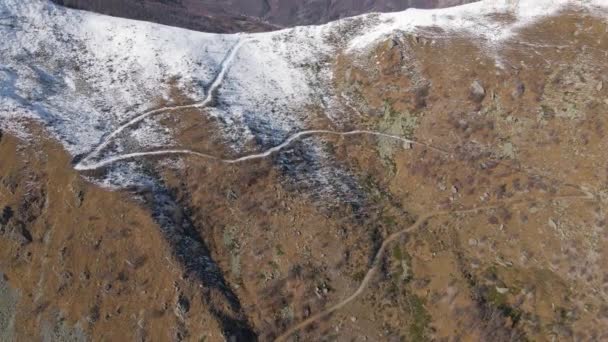
M 292 134 L 287 139 L 285 139 L 281 144 L 274 146 L 272 148 L 269 148 L 266 151 L 263 151 L 260 153 L 253 153 L 253 154 L 237 157 L 234 159 L 225 159 L 225 158 L 222 158 L 219 156 L 214 156 L 211 154 L 197 152 L 197 151 L 193 151 L 193 150 L 189 150 L 189 149 L 166 149 L 166 150 L 156 150 L 156 151 L 147 151 L 147 152 L 127 153 L 127 154 L 117 155 L 117 156 L 113 156 L 113 157 L 108 157 L 106 159 L 102 159 L 102 160 L 99 160 L 96 162 L 91 162 L 91 159 L 98 157 L 100 155 L 100 153 L 102 151 L 104 151 L 119 134 L 121 134 L 128 128 L 142 122 L 143 120 L 145 120 L 146 118 L 148 118 L 150 116 L 153 116 L 156 114 L 161 114 L 161 113 L 174 112 L 174 111 L 183 110 L 183 109 L 204 108 L 204 107 L 208 106 L 213 101 L 214 93 L 222 85 L 222 82 L 225 79 L 226 73 L 227 73 L 228 69 L 230 68 L 230 66 L 232 65 L 234 59 L 236 58 L 238 51 L 248 41 L 251 41 L 251 39 L 240 40 L 228 51 L 227 55 L 225 56 L 225 58 L 223 59 L 223 61 L 221 63 L 219 72 L 216 74 L 213 82 L 207 89 L 206 96 L 202 101 L 196 102 L 193 104 L 188 104 L 188 105 L 167 106 L 167 107 L 163 107 L 163 108 L 158 108 L 158 109 L 144 112 L 144 113 L 136 116 L 135 118 L 131 119 L 130 121 L 126 122 L 125 124 L 119 126 L 113 132 L 109 133 L 104 139 L 102 139 L 102 141 L 99 143 L 99 145 L 94 150 L 92 150 L 89 154 L 87 154 L 79 163 L 77 163 L 74 166 L 74 168 L 78 171 L 92 171 L 92 170 L 97 170 L 97 169 L 107 167 L 111 164 L 114 164 L 114 163 L 117 163 L 120 161 L 131 160 L 131 159 L 136 159 L 136 158 L 141 158 L 141 157 L 149 157 L 149 156 L 171 156 L 171 155 L 190 155 L 190 156 L 195 156 L 195 157 L 204 158 L 207 160 L 212 160 L 212 161 L 217 161 L 217 162 L 222 162 L 222 163 L 226 163 L 226 164 L 238 164 L 238 163 L 242 163 L 242 162 L 246 162 L 246 161 L 263 159 L 263 158 L 269 157 L 269 156 L 273 155 L 274 153 L 277 153 L 277 152 L 281 151 L 282 149 L 290 146 L 293 142 L 300 140 L 300 139 L 304 139 L 306 137 L 313 136 L 313 135 L 334 135 L 334 136 L 342 136 L 342 137 L 355 136 L 355 135 L 369 135 L 369 136 L 376 136 L 379 138 L 392 139 L 392 140 L 400 141 L 400 142 L 407 143 L 407 144 L 422 146 L 429 150 L 432 150 L 434 152 L 438 152 L 441 154 L 453 155 L 453 153 L 454 153 L 453 151 L 444 150 L 444 149 L 434 147 L 434 146 L 431 146 L 431 145 L 423 143 L 423 142 L 419 142 L 419 141 L 415 141 L 415 140 L 411 140 L 411 139 L 407 139 L 407 138 L 403 138 L 400 136 L 391 135 L 391 134 L 387 134 L 387 133 L 377 132 L 377 131 L 352 130 L 352 131 L 341 132 L 341 131 L 333 131 L 333 130 L 305 130 L 305 131 L 300 131 L 300 132 Z M 445 216 L 445 215 L 466 215 L 466 214 L 478 213 L 480 211 L 497 209 L 501 206 L 506 206 L 506 205 L 514 206 L 514 205 L 525 204 L 525 203 L 550 202 L 550 201 L 556 201 L 556 200 L 593 200 L 593 199 L 595 199 L 593 194 L 585 191 L 583 188 L 581 188 L 578 185 L 564 183 L 562 181 L 552 179 L 549 176 L 544 176 L 539 173 L 531 172 L 530 170 L 527 170 L 527 169 L 513 167 L 512 165 L 504 163 L 500 160 L 497 160 L 497 162 L 499 164 L 505 165 L 508 168 L 514 169 L 515 171 L 518 171 L 518 172 L 524 172 L 529 175 L 542 177 L 542 178 L 545 178 L 548 180 L 558 181 L 558 182 L 562 183 L 562 185 L 564 185 L 564 186 L 576 188 L 580 192 L 584 193 L 584 195 L 564 195 L 564 196 L 548 197 L 545 199 L 534 199 L 534 200 L 526 199 L 526 200 L 504 201 L 501 203 L 495 203 L 492 205 L 480 206 L 480 207 L 475 207 L 475 208 L 470 208 L 470 209 L 434 211 L 434 212 L 422 215 L 421 217 L 419 217 L 417 219 L 417 221 L 414 224 L 404 228 L 401 231 L 398 231 L 398 232 L 395 232 L 395 233 L 389 235 L 382 242 L 382 245 L 380 246 L 380 248 L 378 249 L 377 253 L 375 254 L 375 256 L 373 258 L 373 261 L 371 263 L 369 270 L 367 271 L 365 277 L 363 278 L 363 280 L 361 281 L 359 287 L 356 289 L 355 292 L 353 292 L 349 297 L 345 298 L 344 300 L 340 301 L 339 303 L 336 303 L 335 305 L 294 325 L 293 327 L 291 327 L 290 329 L 285 331 L 283 334 L 281 334 L 279 337 L 277 337 L 275 339 L 275 341 L 285 341 L 287 338 L 289 338 L 295 332 L 297 332 L 303 328 L 306 328 L 307 326 L 315 323 L 316 321 L 318 321 L 320 319 L 327 317 L 328 315 L 340 310 L 344 306 L 346 306 L 349 303 L 356 300 L 359 296 L 361 296 L 361 294 L 363 294 L 365 292 L 365 290 L 369 287 L 370 283 L 373 281 L 374 275 L 378 271 L 379 266 L 381 264 L 381 260 L 384 256 L 384 254 L 386 253 L 386 250 L 390 246 L 390 244 L 393 243 L 398 238 L 400 238 L 403 234 L 410 233 L 410 232 L 413 232 L 414 230 L 419 229 L 431 218 L 434 218 L 437 216 Z

